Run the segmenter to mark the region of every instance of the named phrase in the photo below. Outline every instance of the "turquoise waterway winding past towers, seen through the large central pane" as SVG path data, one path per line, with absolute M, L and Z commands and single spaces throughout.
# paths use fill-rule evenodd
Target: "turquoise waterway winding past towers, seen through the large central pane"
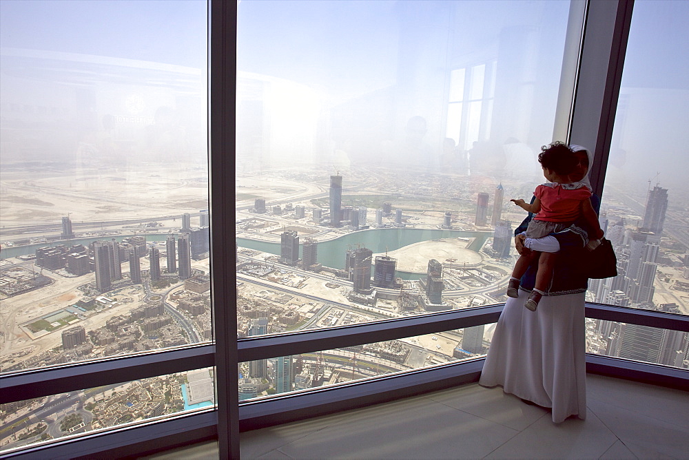
M 349 247 L 356 248 L 357 244 L 371 249 L 374 253 L 394 251 L 422 241 L 438 240 L 441 238 L 475 238 L 468 249 L 479 251 L 487 238 L 492 236 L 489 231 L 460 231 L 460 230 L 431 230 L 431 229 L 372 229 L 356 231 L 340 236 L 335 240 L 318 242 L 318 262 L 333 269 L 345 268 L 345 252 Z M 280 243 L 237 238 L 241 247 L 256 249 L 275 255 L 280 255 Z M 299 248 L 300 255 L 302 248 Z M 399 276 L 399 275 L 398 275 Z

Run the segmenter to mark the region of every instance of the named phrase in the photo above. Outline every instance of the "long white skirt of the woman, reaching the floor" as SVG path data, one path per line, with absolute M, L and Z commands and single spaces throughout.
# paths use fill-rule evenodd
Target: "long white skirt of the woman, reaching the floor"
M 585 293 L 546 295 L 535 312 L 528 292 L 509 298 L 479 383 L 552 408 L 553 422 L 586 418 Z

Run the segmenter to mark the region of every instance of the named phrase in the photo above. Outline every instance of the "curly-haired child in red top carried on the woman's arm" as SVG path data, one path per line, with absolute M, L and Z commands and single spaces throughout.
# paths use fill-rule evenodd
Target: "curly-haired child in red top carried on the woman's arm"
M 553 143 L 541 148 L 538 163 L 543 167 L 543 175 L 548 182 L 536 187 L 535 199 L 529 205 L 524 200 L 511 200 L 522 209 L 536 214 L 526 228 L 526 238 L 543 238 L 550 233 L 562 231 L 579 217 L 586 220 L 591 229 L 595 229 L 596 238 L 601 238 L 603 231 L 598 223 L 598 216 L 591 206 L 591 192 L 583 182 L 572 182 L 569 175 L 574 173 L 577 158 L 573 151 L 562 143 Z M 509 297 L 519 297 L 520 278 L 526 269 L 538 258 L 536 282 L 531 295 L 524 306 L 536 311 L 538 302 L 548 289 L 553 276 L 556 253 L 529 251 L 520 255 L 512 271 L 512 278 L 507 287 Z

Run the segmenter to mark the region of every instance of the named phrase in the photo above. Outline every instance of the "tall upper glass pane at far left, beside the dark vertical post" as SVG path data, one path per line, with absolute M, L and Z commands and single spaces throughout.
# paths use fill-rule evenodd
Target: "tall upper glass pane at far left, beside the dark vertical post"
M 2 371 L 211 339 L 206 4 L 0 13 Z

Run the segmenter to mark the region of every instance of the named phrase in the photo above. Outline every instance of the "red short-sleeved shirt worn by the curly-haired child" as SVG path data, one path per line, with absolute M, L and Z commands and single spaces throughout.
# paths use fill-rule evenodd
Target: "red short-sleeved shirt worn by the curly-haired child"
M 534 216 L 546 222 L 573 222 L 581 214 L 582 201 L 591 192 L 582 185 L 578 189 L 563 189 L 562 184 L 539 185 L 533 194 L 541 201 L 541 210 Z

